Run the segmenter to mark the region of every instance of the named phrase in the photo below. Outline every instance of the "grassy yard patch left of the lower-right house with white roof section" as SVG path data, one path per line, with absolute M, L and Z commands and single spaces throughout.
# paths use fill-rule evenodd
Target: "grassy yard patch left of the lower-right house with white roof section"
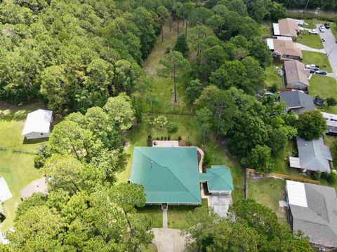
M 264 178 L 248 179 L 248 197 L 256 202 L 270 207 L 282 221 L 286 221 L 279 213 L 279 200 L 285 200 L 286 181 L 282 179 Z

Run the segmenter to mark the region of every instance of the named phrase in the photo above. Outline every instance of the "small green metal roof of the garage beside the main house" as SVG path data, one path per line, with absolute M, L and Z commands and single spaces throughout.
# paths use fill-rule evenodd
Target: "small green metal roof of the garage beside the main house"
M 207 182 L 209 191 L 234 190 L 232 174 L 225 165 L 212 165 L 206 173 L 199 174 L 202 182 Z

